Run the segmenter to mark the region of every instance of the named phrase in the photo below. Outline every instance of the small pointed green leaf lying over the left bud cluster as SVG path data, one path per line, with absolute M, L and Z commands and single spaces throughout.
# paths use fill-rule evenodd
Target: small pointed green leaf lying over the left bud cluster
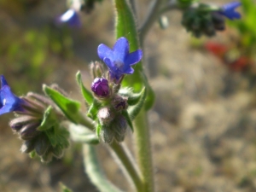
M 45 131 L 49 130 L 52 126 L 57 124 L 57 119 L 55 116 L 55 113 L 53 111 L 53 108 L 49 106 L 45 111 L 44 111 L 44 118 L 40 126 L 38 126 L 38 131 Z

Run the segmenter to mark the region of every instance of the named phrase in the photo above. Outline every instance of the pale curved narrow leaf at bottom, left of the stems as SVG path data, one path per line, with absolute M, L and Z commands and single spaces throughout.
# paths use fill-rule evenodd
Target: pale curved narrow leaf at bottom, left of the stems
M 121 192 L 113 183 L 110 183 L 104 176 L 101 166 L 97 160 L 96 147 L 92 145 L 83 145 L 85 172 L 90 177 L 91 183 L 94 183 L 100 191 Z

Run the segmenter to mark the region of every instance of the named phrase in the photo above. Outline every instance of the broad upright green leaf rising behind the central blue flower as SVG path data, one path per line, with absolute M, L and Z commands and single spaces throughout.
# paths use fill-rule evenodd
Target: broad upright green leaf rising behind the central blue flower
M 114 6 L 116 8 L 116 38 L 125 37 L 130 43 L 130 51 L 133 52 L 140 49 L 137 25 L 130 5 L 126 0 L 114 0 Z M 132 75 L 126 75 L 122 81 L 123 86 L 131 86 L 138 92 L 143 88 L 143 78 L 141 72 L 143 71 L 142 62 L 138 62 L 135 65 L 135 72 Z

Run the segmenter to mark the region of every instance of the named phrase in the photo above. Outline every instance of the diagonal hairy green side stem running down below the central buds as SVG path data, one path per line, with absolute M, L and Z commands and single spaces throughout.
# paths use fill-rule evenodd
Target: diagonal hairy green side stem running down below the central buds
M 79 123 L 81 125 L 88 127 L 91 131 L 95 130 L 95 125 L 87 117 L 84 117 L 84 119 L 81 120 Z M 137 191 L 143 191 L 143 183 L 140 177 L 140 173 L 137 170 L 135 161 L 132 160 L 131 152 L 125 148 L 124 144 L 119 144 L 116 142 L 111 143 L 109 145 L 109 148 L 112 149 L 113 154 L 115 154 L 115 156 L 123 166 L 125 172 L 128 173 L 128 176 L 132 183 L 134 184 L 134 186 L 136 187 Z

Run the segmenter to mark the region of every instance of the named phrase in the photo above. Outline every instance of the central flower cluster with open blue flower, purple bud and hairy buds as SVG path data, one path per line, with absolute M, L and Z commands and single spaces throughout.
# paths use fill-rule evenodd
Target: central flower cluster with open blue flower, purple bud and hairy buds
M 100 44 L 98 55 L 107 65 L 108 72 L 103 72 L 100 62 L 93 62 L 90 66 L 91 74 L 95 78 L 90 88 L 94 92 L 95 98 L 94 102 L 89 105 L 88 116 L 91 119 L 97 119 L 96 133 L 98 137 L 102 137 L 105 143 L 111 143 L 113 139 L 122 142 L 125 139 L 128 125 L 132 128 L 127 108 L 130 105 L 136 105 L 140 101 L 141 95 L 131 102 L 131 97 L 134 98 L 134 94 L 131 91 L 125 95 L 120 94 L 120 84 L 125 74 L 134 72 L 131 66 L 142 59 L 143 51 L 137 49 L 130 53 L 128 40 L 119 38 L 113 49 L 108 48 L 105 44 Z M 107 77 L 104 78 L 104 74 L 108 74 Z

